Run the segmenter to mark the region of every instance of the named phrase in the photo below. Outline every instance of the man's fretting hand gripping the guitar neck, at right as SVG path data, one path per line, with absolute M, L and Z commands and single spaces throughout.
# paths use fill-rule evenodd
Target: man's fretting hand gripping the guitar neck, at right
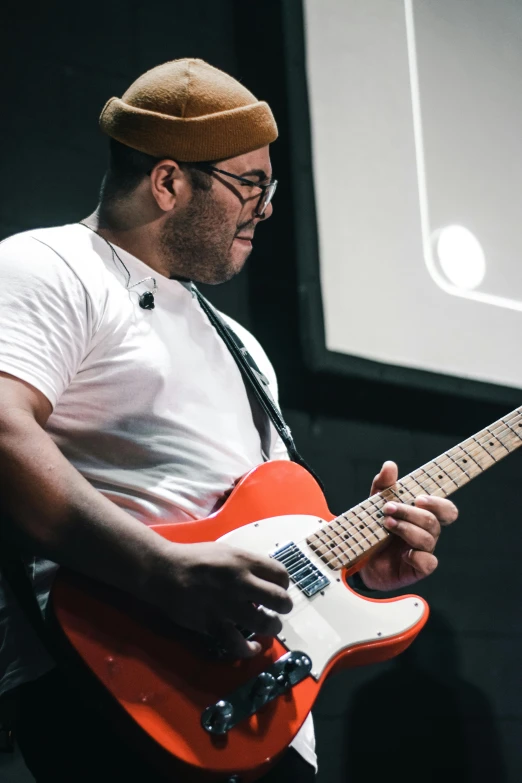
M 385 462 L 373 480 L 371 494 L 391 487 L 397 479 L 395 462 Z M 416 498 L 414 506 L 386 503 L 383 511 L 384 527 L 393 535 L 361 568 L 360 575 L 373 590 L 397 590 L 435 571 L 438 561 L 433 551 L 441 527 L 455 522 L 459 512 L 451 500 L 434 495 Z

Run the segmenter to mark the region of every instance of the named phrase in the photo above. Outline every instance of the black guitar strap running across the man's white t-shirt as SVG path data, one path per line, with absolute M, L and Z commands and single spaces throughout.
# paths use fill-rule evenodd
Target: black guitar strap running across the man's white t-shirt
M 242 341 L 237 336 L 237 334 L 234 332 L 233 329 L 230 328 L 230 326 L 227 323 L 225 323 L 223 318 L 221 318 L 217 310 L 214 309 L 214 307 L 210 304 L 208 299 L 205 299 L 203 294 L 200 293 L 200 291 L 198 291 L 198 289 L 194 284 L 192 284 L 192 290 L 194 291 L 199 301 L 199 304 L 201 305 L 201 309 L 207 315 L 210 323 L 215 328 L 215 330 L 217 331 L 217 333 L 219 334 L 219 336 L 221 337 L 221 339 L 229 349 L 233 358 L 235 359 L 236 364 L 238 365 L 239 370 L 241 372 L 241 375 L 243 376 L 243 380 L 245 381 L 245 386 L 247 387 L 247 391 L 248 389 L 252 390 L 255 401 L 261 407 L 262 411 L 264 411 L 266 416 L 268 416 L 269 419 L 272 421 L 277 434 L 279 435 L 279 437 L 281 438 L 281 440 L 286 446 L 290 459 L 292 460 L 292 462 L 297 462 L 298 465 L 301 465 L 301 467 L 305 468 L 309 473 L 311 473 L 311 475 L 317 481 L 321 489 L 324 489 L 323 483 L 319 478 L 319 476 L 312 470 L 312 468 L 305 462 L 305 460 L 301 457 L 301 455 L 297 451 L 296 445 L 294 443 L 294 439 L 292 438 L 292 434 L 289 428 L 287 427 L 285 420 L 283 419 L 281 412 L 279 411 L 279 408 L 275 404 L 272 395 L 270 394 L 269 383 L 267 378 L 265 378 L 265 376 L 257 366 L 256 362 L 249 354 L 249 352 L 243 345 Z M 256 419 L 258 417 L 256 416 L 256 411 L 254 406 L 252 407 L 253 407 L 252 413 L 254 416 L 254 423 L 256 423 L 256 426 L 260 431 L 261 443 L 263 445 L 263 440 L 264 440 L 263 428 L 257 425 Z M 268 456 L 268 453 L 267 452 L 265 453 Z

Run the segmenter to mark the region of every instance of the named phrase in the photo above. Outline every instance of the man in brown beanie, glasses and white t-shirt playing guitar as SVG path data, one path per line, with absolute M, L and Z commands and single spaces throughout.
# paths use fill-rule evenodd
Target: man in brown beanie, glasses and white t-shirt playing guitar
M 276 125 L 266 103 L 190 59 L 144 74 L 107 103 L 100 123 L 111 159 L 97 210 L 0 248 L 10 533 L 41 558 L 28 566 L 42 605 L 58 563 L 212 634 L 235 656 L 255 655 L 259 644 L 237 626 L 278 633 L 277 613 L 292 606 L 285 569 L 224 544 L 172 544 L 143 523 L 208 516 L 263 461 L 244 383 L 192 281 L 237 274 L 272 214 Z M 275 396 L 261 347 L 232 325 Z M 271 444 L 267 456 L 287 458 L 275 430 Z M 396 478 L 385 463 L 372 490 Z M 370 589 L 431 573 L 440 526 L 457 515 L 438 498 L 387 512 L 396 536 L 362 572 Z M 74 705 L 8 591 L 1 618 L 2 688 L 19 693 L 19 742 L 37 780 L 159 780 L 101 718 Z M 313 779 L 315 766 L 308 719 L 266 780 Z

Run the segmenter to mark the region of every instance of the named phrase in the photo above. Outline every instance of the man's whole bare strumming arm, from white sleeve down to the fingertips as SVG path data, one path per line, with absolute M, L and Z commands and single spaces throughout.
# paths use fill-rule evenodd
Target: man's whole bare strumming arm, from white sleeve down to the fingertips
M 8 533 L 26 552 L 145 600 L 232 654 L 252 655 L 235 624 L 275 635 L 288 612 L 288 576 L 276 561 L 218 543 L 172 544 L 95 490 L 43 427 L 52 409 L 34 387 L 0 373 L 0 476 Z

